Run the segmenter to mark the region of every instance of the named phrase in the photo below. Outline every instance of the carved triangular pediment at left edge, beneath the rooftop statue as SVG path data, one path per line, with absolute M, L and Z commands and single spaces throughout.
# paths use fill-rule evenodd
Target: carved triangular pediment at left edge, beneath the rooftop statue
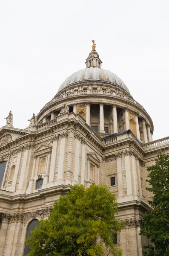
M 25 132 L 22 129 L 3 126 L 0 128 L 0 146 L 5 145 L 6 143 L 9 143 L 12 140 L 15 140 L 18 137 L 26 134 L 29 134 L 29 132 Z

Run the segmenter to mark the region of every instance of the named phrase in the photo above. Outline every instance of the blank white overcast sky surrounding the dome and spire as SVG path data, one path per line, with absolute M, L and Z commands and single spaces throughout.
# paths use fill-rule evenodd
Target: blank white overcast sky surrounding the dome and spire
M 85 60 L 95 39 L 117 74 L 169 136 L 169 0 L 1 0 L 0 127 L 25 128 Z

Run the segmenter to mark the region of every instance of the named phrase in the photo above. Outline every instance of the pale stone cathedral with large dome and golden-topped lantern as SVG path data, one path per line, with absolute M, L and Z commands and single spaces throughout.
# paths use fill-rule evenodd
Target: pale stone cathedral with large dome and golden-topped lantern
M 140 218 L 150 209 L 147 166 L 169 138 L 153 141 L 153 122 L 92 40 L 86 68 L 73 73 L 25 129 L 13 114 L 0 128 L 0 256 L 25 256 L 26 236 L 75 183 L 106 184 L 126 228 L 116 237 L 123 256 L 142 256 Z

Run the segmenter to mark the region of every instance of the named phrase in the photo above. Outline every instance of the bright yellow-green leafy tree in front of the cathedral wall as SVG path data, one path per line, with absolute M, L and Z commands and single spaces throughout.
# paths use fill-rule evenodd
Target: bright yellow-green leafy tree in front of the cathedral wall
M 124 223 L 116 214 L 115 195 L 107 186 L 85 189 L 76 184 L 54 203 L 49 218 L 32 230 L 26 239 L 32 249 L 27 256 L 121 256 L 113 240 Z

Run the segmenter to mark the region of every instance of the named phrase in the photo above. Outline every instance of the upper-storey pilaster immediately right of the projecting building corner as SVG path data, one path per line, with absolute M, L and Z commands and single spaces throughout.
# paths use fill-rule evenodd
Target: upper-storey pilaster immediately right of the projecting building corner
M 80 134 L 74 133 L 74 168 L 72 185 L 79 183 L 79 157 L 80 157 Z

